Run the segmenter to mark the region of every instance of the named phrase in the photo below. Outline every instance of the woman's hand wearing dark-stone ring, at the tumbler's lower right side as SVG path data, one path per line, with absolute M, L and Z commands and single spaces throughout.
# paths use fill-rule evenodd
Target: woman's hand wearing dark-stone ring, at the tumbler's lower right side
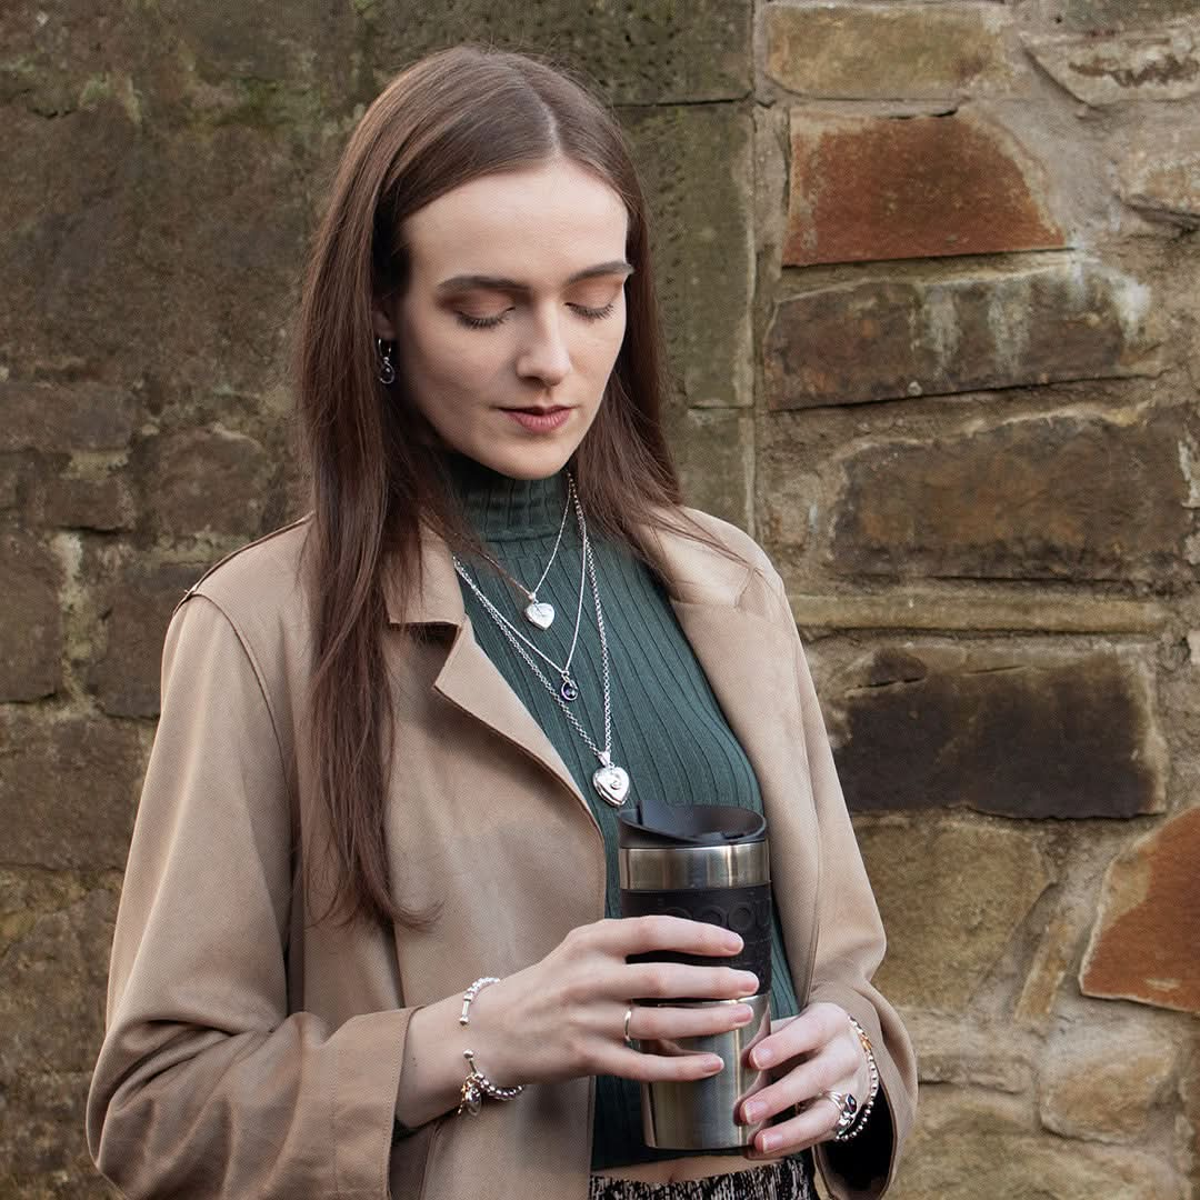
M 770 1033 L 750 1051 L 750 1062 L 768 1070 L 773 1082 L 743 1102 L 744 1124 L 800 1105 L 794 1116 L 757 1134 L 752 1154 L 793 1154 L 826 1141 L 840 1112 L 828 1098 L 815 1098 L 824 1091 L 850 1092 L 862 1104 L 871 1085 L 858 1033 L 838 1004 L 810 1004 L 799 1016 L 772 1021 Z

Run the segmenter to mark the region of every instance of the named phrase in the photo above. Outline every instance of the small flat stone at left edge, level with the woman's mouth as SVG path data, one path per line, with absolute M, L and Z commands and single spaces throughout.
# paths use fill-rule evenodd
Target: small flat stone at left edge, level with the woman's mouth
M 124 450 L 138 421 L 132 392 L 103 384 L 0 383 L 0 451 Z

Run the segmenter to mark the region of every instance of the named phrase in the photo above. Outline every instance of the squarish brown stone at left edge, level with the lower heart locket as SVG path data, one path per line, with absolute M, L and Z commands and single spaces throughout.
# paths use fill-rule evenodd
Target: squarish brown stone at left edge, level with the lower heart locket
M 0 709 L 0 860 L 124 868 L 142 773 L 142 742 L 130 725 Z

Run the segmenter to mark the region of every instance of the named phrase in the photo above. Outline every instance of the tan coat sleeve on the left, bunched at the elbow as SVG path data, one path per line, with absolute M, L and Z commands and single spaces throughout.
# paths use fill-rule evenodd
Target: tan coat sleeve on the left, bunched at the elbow
M 130 1198 L 388 1195 L 409 1009 L 289 1012 L 289 773 L 256 664 L 188 598 L 116 917 L 86 1108 Z

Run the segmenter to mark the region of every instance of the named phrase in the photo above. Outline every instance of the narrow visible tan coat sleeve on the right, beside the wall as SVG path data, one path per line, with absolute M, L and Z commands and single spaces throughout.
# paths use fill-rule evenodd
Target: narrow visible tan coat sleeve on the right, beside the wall
M 809 1003 L 833 1003 L 850 1013 L 871 1039 L 880 1069 L 880 1093 L 866 1127 L 848 1142 L 820 1144 L 816 1160 L 835 1200 L 876 1200 L 892 1183 L 912 1129 L 917 1062 L 900 1016 L 871 984 L 883 960 L 883 923 L 842 798 L 787 593 L 774 569 L 768 571 L 794 637 L 804 748 L 820 832 L 818 935 Z

